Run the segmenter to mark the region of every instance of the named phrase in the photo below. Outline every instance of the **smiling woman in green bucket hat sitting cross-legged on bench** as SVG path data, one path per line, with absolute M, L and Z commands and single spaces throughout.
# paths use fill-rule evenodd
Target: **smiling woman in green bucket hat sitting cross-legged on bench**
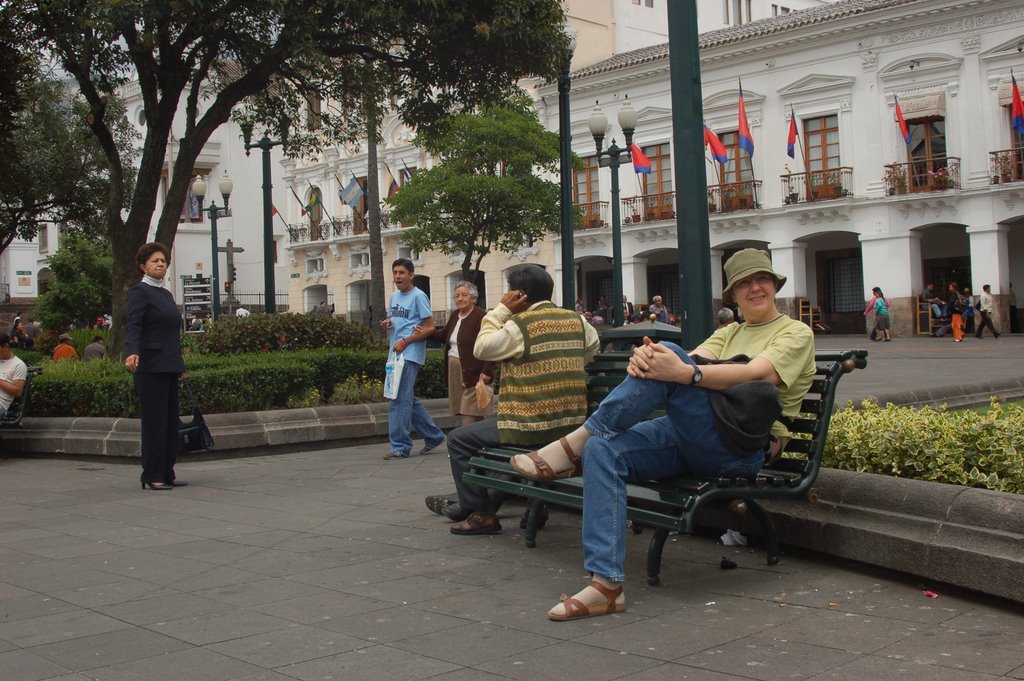
M 630 359 L 629 376 L 581 428 L 540 451 L 512 457 L 517 473 L 547 480 L 579 474 L 579 454 L 583 455 L 584 568 L 593 580 L 573 597 L 562 596 L 548 612 L 551 620 L 626 608 L 627 482 L 685 473 L 750 477 L 787 443 L 790 431 L 775 421 L 770 426 L 760 424 L 764 430 L 757 433 L 758 449 L 738 445 L 741 440 L 723 434 L 729 431 L 719 427 L 732 424 L 713 408 L 712 395 L 743 386 L 741 392 L 756 397 L 755 411 L 763 403 L 773 406 L 778 414 L 780 403 L 784 417 L 795 417 L 814 379 L 814 335 L 810 327 L 776 306 L 775 295 L 785 276 L 772 269 L 767 253 L 738 251 L 725 263 L 725 273 L 728 286 L 722 299 L 739 306 L 743 324 L 717 330 L 690 353 L 673 343 L 645 338 Z M 750 360 L 709 366 L 696 361 L 740 354 Z M 777 402 L 771 386 L 777 389 Z M 736 390 L 730 392 L 730 396 L 736 394 Z M 643 420 L 660 405 L 666 416 Z M 722 424 L 716 423 L 719 419 Z M 741 433 L 745 436 L 748 429 Z

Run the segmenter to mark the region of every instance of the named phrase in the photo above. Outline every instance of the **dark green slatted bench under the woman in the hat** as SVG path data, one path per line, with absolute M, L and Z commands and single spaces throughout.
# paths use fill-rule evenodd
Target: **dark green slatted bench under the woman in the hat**
M 626 377 L 632 352 L 601 352 L 587 365 L 588 402 L 593 412 L 608 392 Z M 757 500 L 797 499 L 814 484 L 828 434 L 828 423 L 836 402 L 840 378 L 867 366 L 866 350 L 825 350 L 814 355 L 816 375 L 804 398 L 801 414 L 794 419 L 794 433 L 783 456 L 754 477 L 710 478 L 685 475 L 665 480 L 650 480 L 627 485 L 627 517 L 635 531 L 654 527 L 647 549 L 647 583 L 659 584 L 662 550 L 671 533 L 693 534 L 697 511 L 711 502 L 731 502 L 734 508 L 750 511 L 758 520 L 769 565 L 778 563 L 778 533 L 771 515 Z M 651 417 L 658 416 L 654 413 Z M 484 487 L 508 492 L 541 502 L 583 509 L 583 477 L 537 482 L 516 475 L 509 459 L 528 450 L 505 446 L 487 448 L 470 460 L 470 470 L 463 479 Z M 586 466 L 586 460 L 584 461 Z M 542 504 L 532 504 L 525 523 L 526 546 L 537 544 Z

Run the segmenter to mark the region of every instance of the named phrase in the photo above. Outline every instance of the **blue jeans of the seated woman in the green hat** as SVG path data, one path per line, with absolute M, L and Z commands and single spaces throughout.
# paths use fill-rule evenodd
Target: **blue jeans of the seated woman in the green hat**
M 681 347 L 664 343 L 686 364 Z M 660 406 L 666 416 L 642 419 Z M 764 453 L 742 459 L 722 443 L 708 390 L 627 377 L 584 423 L 584 567 L 613 582 L 625 579 L 626 483 L 681 473 L 742 477 L 764 465 Z

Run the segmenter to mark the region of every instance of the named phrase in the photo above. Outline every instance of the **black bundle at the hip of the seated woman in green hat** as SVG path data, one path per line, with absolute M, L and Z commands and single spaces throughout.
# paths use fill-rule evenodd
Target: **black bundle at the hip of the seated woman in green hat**
M 743 354 L 728 359 L 697 355 L 693 359 L 698 365 L 745 365 L 751 360 Z M 715 429 L 723 444 L 741 457 L 749 457 L 768 445 L 771 426 L 782 416 L 778 388 L 768 381 L 749 381 L 708 392 L 715 412 Z

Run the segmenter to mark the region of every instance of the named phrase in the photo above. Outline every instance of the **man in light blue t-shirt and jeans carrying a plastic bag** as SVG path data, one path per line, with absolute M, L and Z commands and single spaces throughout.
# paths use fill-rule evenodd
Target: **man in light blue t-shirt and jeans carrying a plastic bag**
M 384 456 L 388 461 L 409 458 L 413 451 L 413 428 L 425 442 L 420 456 L 430 454 L 444 441 L 444 432 L 430 418 L 415 393 L 416 377 L 427 357 L 426 339 L 434 333 L 430 299 L 413 286 L 415 272 L 416 266 L 408 258 L 398 258 L 391 263 L 391 276 L 398 290 L 391 294 L 387 316 L 381 322 L 382 327 L 391 331 L 391 349 L 406 360 L 398 383 L 398 396 L 388 401 L 391 451 Z

